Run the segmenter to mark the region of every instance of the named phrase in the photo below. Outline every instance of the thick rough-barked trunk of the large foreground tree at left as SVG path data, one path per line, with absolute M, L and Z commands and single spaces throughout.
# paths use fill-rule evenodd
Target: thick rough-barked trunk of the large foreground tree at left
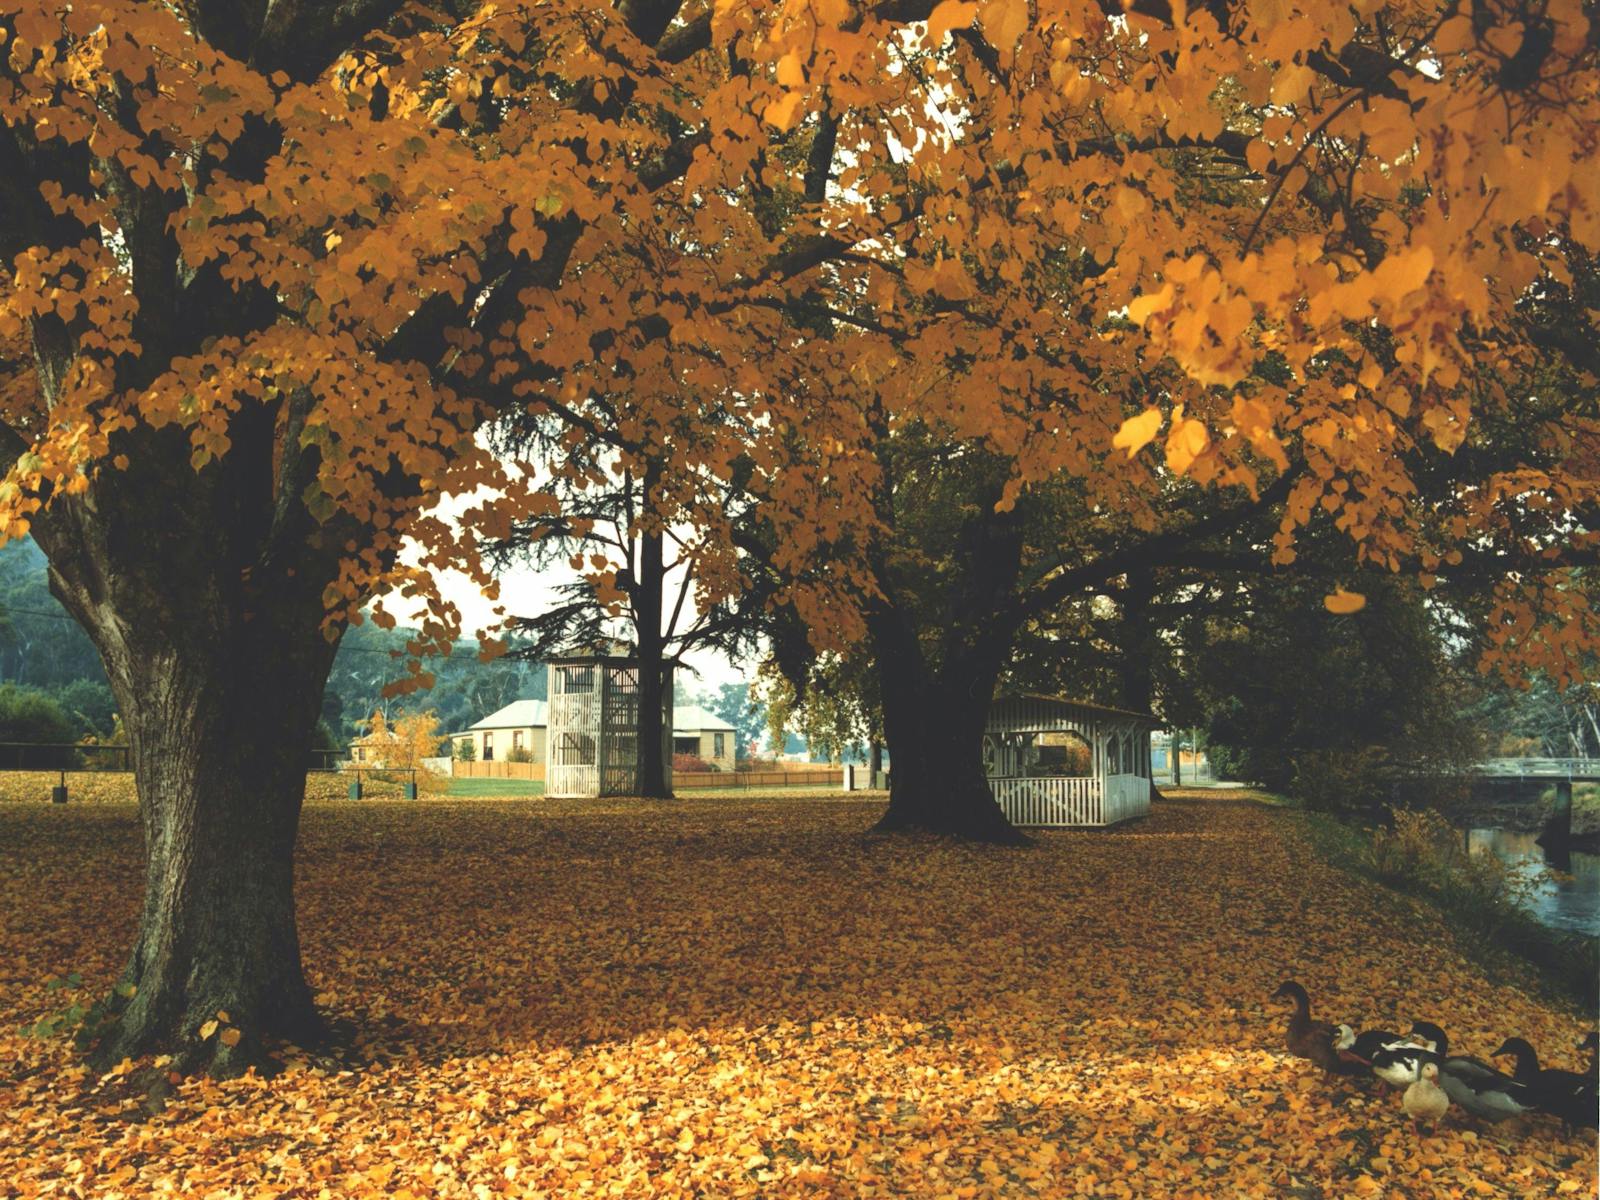
M 198 472 L 182 434 L 152 434 L 128 469 L 34 526 L 51 590 L 106 666 L 144 827 L 144 907 L 120 979 L 133 994 L 112 1005 L 99 1062 L 165 1051 L 232 1074 L 270 1038 L 322 1029 L 301 970 L 294 840 L 338 645 L 323 589 L 339 557 L 325 547 L 342 531 L 274 502 L 302 485 L 274 478 L 270 430 L 269 411 L 240 419 L 227 470 Z

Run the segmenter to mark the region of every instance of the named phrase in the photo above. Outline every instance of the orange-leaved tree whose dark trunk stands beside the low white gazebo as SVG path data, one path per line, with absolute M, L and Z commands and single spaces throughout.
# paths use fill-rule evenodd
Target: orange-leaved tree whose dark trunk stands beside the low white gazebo
M 888 827 L 1006 837 L 978 746 L 1011 635 L 1261 517 L 1262 568 L 1291 566 L 1318 515 L 1357 562 L 1424 584 L 1496 571 L 1501 659 L 1571 677 L 1595 635 L 1568 573 L 1594 554 L 1595 413 L 1509 384 L 1560 346 L 1589 370 L 1592 339 L 1533 317 L 1600 227 L 1576 5 L 941 3 L 923 37 L 875 48 L 818 24 L 752 42 L 790 86 L 774 117 L 837 122 L 840 192 L 893 230 L 832 269 L 813 347 L 819 376 L 851 363 L 832 378 L 878 467 L 861 613 Z M 870 106 L 874 128 L 851 125 Z M 918 110 L 941 120 L 914 138 Z M 1520 456 L 1478 453 L 1514 422 Z M 896 478 L 907 434 L 971 477 L 931 626 L 894 579 L 915 554 L 901 496 L 926 486 Z M 1062 482 L 1088 520 L 1030 541 L 1019 509 Z

